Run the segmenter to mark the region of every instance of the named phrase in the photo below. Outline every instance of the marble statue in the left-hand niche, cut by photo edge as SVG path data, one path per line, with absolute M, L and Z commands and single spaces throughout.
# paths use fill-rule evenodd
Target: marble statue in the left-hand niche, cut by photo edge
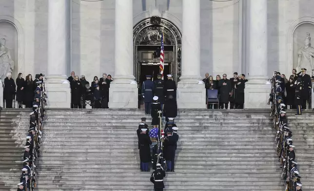
M 13 71 L 14 61 L 12 60 L 10 50 L 5 46 L 5 38 L 0 39 L 0 79 L 3 81 L 6 75 Z

